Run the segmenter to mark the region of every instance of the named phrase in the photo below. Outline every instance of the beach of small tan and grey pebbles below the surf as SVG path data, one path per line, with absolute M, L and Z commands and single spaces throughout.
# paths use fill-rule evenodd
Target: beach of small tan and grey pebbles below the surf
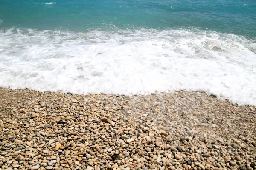
M 0 88 L 3 170 L 253 170 L 256 108 L 201 92 Z

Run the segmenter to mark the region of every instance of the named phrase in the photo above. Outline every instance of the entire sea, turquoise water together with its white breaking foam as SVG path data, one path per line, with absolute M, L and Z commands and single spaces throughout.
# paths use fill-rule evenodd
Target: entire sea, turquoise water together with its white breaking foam
M 256 0 L 0 0 L 0 87 L 256 105 Z

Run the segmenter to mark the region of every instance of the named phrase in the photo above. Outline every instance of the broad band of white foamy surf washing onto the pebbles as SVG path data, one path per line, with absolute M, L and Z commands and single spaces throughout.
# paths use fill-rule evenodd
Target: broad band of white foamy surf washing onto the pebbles
M 244 37 L 197 29 L 12 28 L 0 32 L 0 86 L 77 94 L 187 89 L 256 105 L 255 49 Z

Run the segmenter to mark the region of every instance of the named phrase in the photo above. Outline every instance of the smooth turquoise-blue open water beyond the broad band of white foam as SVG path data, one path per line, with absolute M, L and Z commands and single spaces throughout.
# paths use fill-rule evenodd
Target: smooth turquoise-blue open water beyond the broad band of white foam
M 182 29 L 256 37 L 255 0 L 1 0 L 0 28 Z

